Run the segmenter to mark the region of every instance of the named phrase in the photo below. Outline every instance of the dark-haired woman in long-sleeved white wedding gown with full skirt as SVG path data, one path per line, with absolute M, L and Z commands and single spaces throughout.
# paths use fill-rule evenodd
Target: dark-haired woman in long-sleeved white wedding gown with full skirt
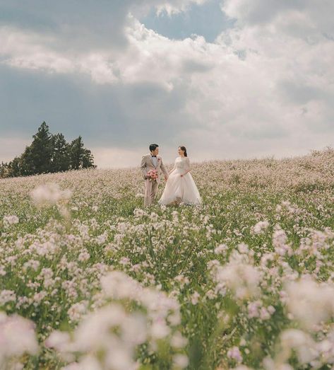
M 186 147 L 179 146 L 178 153 L 179 157 L 175 159 L 174 168 L 169 173 L 159 204 L 201 204 L 201 195 L 190 173 Z

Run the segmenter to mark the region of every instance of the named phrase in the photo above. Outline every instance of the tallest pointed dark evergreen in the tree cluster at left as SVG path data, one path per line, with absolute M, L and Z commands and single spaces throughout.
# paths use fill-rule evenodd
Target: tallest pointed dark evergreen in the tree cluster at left
M 43 121 L 32 138 L 31 145 L 23 153 L 25 175 L 51 172 L 52 135 L 49 126 Z

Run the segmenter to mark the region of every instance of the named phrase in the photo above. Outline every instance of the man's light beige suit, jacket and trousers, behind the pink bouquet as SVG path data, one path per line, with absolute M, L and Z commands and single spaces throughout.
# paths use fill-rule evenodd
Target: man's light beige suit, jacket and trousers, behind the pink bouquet
M 151 154 L 146 154 L 141 158 L 141 170 L 145 179 L 144 206 L 149 206 L 150 204 L 153 204 L 155 195 L 157 194 L 157 187 L 161 182 L 160 171 L 162 171 L 166 177 L 168 177 L 168 172 L 162 163 L 162 158 L 160 156 L 157 156 L 157 165 L 154 165 Z M 157 170 L 158 178 L 156 181 L 150 181 L 146 178 L 146 173 L 148 173 L 149 170 Z

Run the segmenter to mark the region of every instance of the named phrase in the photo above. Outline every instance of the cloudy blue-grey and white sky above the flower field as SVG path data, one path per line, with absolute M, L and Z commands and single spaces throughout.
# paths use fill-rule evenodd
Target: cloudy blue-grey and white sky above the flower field
M 100 167 L 334 146 L 333 0 L 0 0 L 0 161 L 44 120 Z

